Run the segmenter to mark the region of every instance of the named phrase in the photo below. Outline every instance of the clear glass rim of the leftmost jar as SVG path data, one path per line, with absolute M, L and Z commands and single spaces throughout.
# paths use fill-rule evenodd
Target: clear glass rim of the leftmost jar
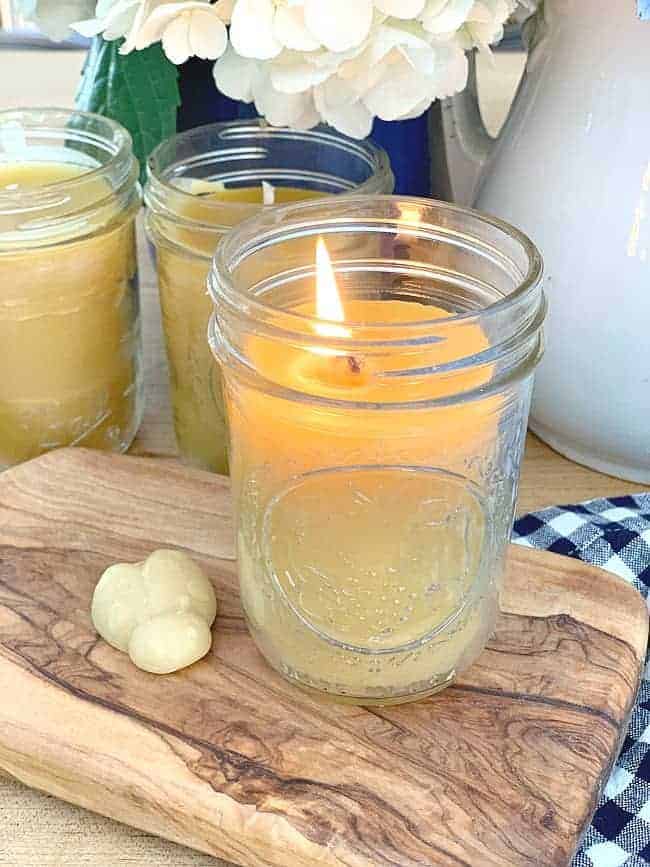
M 0 131 L 2 130 L 3 125 L 10 123 L 12 120 L 16 120 L 17 122 L 25 120 L 33 121 L 26 125 L 28 129 L 54 129 L 55 127 L 48 126 L 48 121 L 51 124 L 55 119 L 62 120 L 64 118 L 68 120 L 70 118 L 81 118 L 88 122 L 93 122 L 103 126 L 106 130 L 106 135 L 100 135 L 99 133 L 89 134 L 88 132 L 84 132 L 82 138 L 93 141 L 94 143 L 101 140 L 104 145 L 112 145 L 110 148 L 109 158 L 106 162 L 96 166 L 95 168 L 90 168 L 87 172 L 82 172 L 80 175 L 72 178 L 53 181 L 45 187 L 33 190 L 17 190 L 8 193 L 4 190 L 0 190 L 0 210 L 2 209 L 3 202 L 8 201 L 16 202 L 17 200 L 23 200 L 26 203 L 38 204 L 39 199 L 42 198 L 44 194 L 47 195 L 47 193 L 50 193 L 53 190 L 72 189 L 89 181 L 94 181 L 95 178 L 114 169 L 121 161 L 124 161 L 130 168 L 131 160 L 135 159 L 133 157 L 133 140 L 131 134 L 117 121 L 95 112 L 56 107 L 7 108 L 0 110 Z M 25 126 L 24 123 L 23 126 Z M 65 130 L 66 139 L 74 136 L 79 137 L 79 135 L 80 131 L 78 129 L 72 128 Z M 0 156 L 1 155 L 2 152 L 0 151 Z M 1 162 L 3 162 L 3 160 L 0 159 L 0 163 Z

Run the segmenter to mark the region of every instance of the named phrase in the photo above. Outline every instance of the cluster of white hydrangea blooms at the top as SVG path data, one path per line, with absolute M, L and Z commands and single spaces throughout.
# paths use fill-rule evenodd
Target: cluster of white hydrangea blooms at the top
M 273 125 L 325 121 L 363 138 L 462 90 L 466 52 L 489 46 L 517 0 L 19 0 L 65 35 L 161 42 L 174 63 L 215 58 L 217 87 Z M 533 0 L 524 0 L 530 7 Z M 230 25 L 228 33 L 227 26 Z

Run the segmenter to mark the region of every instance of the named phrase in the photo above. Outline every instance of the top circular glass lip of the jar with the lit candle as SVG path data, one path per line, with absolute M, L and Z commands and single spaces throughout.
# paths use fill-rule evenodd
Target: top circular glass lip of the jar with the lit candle
M 400 331 L 402 330 L 402 328 L 404 328 L 405 330 L 412 329 L 413 333 L 415 334 L 426 331 L 432 326 L 441 325 L 447 329 L 453 327 L 455 324 L 465 325 L 471 322 L 477 322 L 479 320 L 483 321 L 485 317 L 501 314 L 502 312 L 507 311 L 508 308 L 525 302 L 525 299 L 531 293 L 534 293 L 539 287 L 544 268 L 542 256 L 539 250 L 524 232 L 512 226 L 505 220 L 501 220 L 498 217 L 495 217 L 491 214 L 486 214 L 473 208 L 467 208 L 461 205 L 444 202 L 438 199 L 426 199 L 416 196 L 379 194 L 373 195 L 371 198 L 369 198 L 368 196 L 358 195 L 355 193 L 330 197 L 328 199 L 315 199 L 312 201 L 298 202 L 290 205 L 275 206 L 275 208 L 273 209 L 266 209 L 237 224 L 221 239 L 212 258 L 212 266 L 208 276 L 208 291 L 210 293 L 212 302 L 215 305 L 219 304 L 227 296 L 228 300 L 231 301 L 235 306 L 237 306 L 238 303 L 245 303 L 246 309 L 249 314 L 253 311 L 257 311 L 262 315 L 267 315 L 274 312 L 281 312 L 284 321 L 286 321 L 287 323 L 294 322 L 296 326 L 300 327 L 300 329 L 302 330 L 306 323 L 314 322 L 314 316 L 310 316 L 308 314 L 296 312 L 293 310 L 279 311 L 278 308 L 276 308 L 275 306 L 268 304 L 265 301 L 260 300 L 259 298 L 251 296 L 246 292 L 245 289 L 236 285 L 236 282 L 232 279 L 231 270 L 231 262 L 235 259 L 235 252 L 240 249 L 245 249 L 246 245 L 251 241 L 254 240 L 260 242 L 265 237 L 267 237 L 272 243 L 273 237 L 281 235 L 283 231 L 286 231 L 291 225 L 292 218 L 295 219 L 296 216 L 303 216 L 303 220 L 302 222 L 296 221 L 294 223 L 294 226 L 296 228 L 303 226 L 304 228 L 305 226 L 309 225 L 309 223 L 307 222 L 309 214 L 316 213 L 319 210 L 322 210 L 325 203 L 327 203 L 328 208 L 332 207 L 336 209 L 338 207 L 354 209 L 355 206 L 369 206 L 369 203 L 381 204 L 382 202 L 387 205 L 389 203 L 399 203 L 400 205 L 405 205 L 406 207 L 410 206 L 412 208 L 436 207 L 449 214 L 466 216 L 475 219 L 486 226 L 491 226 L 492 228 L 497 229 L 498 231 L 502 232 L 504 236 L 516 241 L 521 246 L 521 249 L 528 261 L 528 268 L 526 274 L 519 282 L 519 285 L 512 292 L 510 292 L 508 295 L 503 296 L 498 301 L 495 301 L 494 303 L 489 304 L 479 310 L 454 313 L 450 316 L 447 315 L 445 317 L 434 317 L 433 319 L 428 320 L 418 319 L 412 322 L 400 322 Z M 370 213 L 368 213 L 368 218 L 370 217 L 371 215 Z M 328 219 L 323 219 L 322 222 L 324 229 L 327 229 L 327 227 L 331 228 L 337 222 L 337 217 L 331 216 Z M 386 222 L 390 222 L 390 219 L 386 218 Z M 396 225 L 398 224 L 396 218 L 393 218 L 392 222 L 394 222 Z M 408 223 L 401 221 L 399 224 L 405 227 L 409 225 Z M 266 236 L 264 235 L 265 229 Z M 310 234 L 314 234 L 314 236 L 316 235 L 316 233 Z M 346 328 L 351 330 L 352 332 L 354 332 L 355 328 L 367 328 L 368 325 L 371 325 L 373 329 L 376 328 L 378 331 L 381 331 L 382 329 L 385 329 L 386 331 L 395 330 L 394 322 L 373 321 L 372 323 L 367 323 L 349 321 L 347 319 L 345 322 Z M 340 338 L 339 341 L 340 346 L 342 347 L 353 343 L 353 340 L 350 340 L 349 338 Z M 403 341 L 401 340 L 397 342 L 389 341 L 389 343 L 392 343 L 393 345 L 399 345 L 402 342 Z

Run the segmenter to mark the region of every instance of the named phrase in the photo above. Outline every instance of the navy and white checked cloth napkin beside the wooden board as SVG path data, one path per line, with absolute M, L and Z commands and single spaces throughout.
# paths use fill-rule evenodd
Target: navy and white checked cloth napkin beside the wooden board
M 520 518 L 513 541 L 601 566 L 650 594 L 650 494 L 591 500 Z M 649 600 L 650 601 L 650 600 Z M 650 864 L 650 657 L 630 728 L 572 867 Z

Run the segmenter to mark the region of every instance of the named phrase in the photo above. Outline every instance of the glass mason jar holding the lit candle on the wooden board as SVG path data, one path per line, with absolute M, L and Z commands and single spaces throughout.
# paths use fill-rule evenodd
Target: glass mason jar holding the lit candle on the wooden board
M 321 238 L 332 272 L 317 281 Z M 505 223 L 391 196 L 265 212 L 217 249 L 209 335 L 242 603 L 296 684 L 407 701 L 483 649 L 542 352 L 541 272 Z M 342 310 L 324 321 L 315 283 L 334 281 Z

